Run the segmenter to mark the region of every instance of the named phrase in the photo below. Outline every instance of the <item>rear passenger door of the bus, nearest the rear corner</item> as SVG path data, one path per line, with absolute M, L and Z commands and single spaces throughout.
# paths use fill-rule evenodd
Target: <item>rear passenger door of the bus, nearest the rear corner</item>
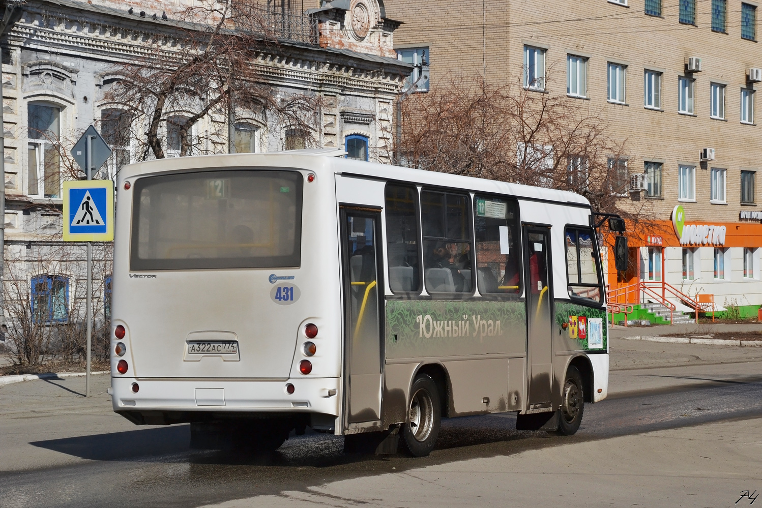
M 341 208 L 344 265 L 347 427 L 375 427 L 381 420 L 382 341 L 379 299 L 379 212 Z M 365 425 L 363 425 L 365 423 Z

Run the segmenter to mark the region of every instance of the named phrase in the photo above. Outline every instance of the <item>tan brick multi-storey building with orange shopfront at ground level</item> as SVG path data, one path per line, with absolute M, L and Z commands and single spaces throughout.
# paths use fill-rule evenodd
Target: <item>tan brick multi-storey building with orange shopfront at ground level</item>
M 645 204 L 657 219 L 652 231 L 629 233 L 636 269 L 617 280 L 610 267 L 612 287 L 664 280 L 757 314 L 756 3 L 386 0 L 386 13 L 405 22 L 395 32 L 399 58 L 428 62 L 422 91 L 452 73 L 492 84 L 521 77 L 538 93 L 566 88 L 571 100 L 603 111 L 610 136 L 625 142 L 629 177 L 642 175 L 630 178 L 623 204 Z M 677 206 L 684 227 L 673 224 Z

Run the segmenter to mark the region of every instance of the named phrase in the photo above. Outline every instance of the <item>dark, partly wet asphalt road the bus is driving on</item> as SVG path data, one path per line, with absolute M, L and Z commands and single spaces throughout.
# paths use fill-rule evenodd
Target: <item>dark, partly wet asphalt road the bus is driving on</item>
M 759 427 L 762 362 L 742 361 L 748 358 L 744 352 L 731 363 L 612 371 L 612 395 L 586 405 L 572 437 L 517 431 L 513 414 L 444 420 L 427 458 L 347 455 L 342 438 L 316 433 L 292 436 L 277 452 L 256 457 L 191 451 L 187 426 L 133 427 L 109 413 L 105 396 L 78 397 L 81 379 L 9 385 L 0 389 L 0 506 L 203 506 L 617 436 L 693 433 L 711 422 Z M 107 384 L 97 379 L 96 388 Z

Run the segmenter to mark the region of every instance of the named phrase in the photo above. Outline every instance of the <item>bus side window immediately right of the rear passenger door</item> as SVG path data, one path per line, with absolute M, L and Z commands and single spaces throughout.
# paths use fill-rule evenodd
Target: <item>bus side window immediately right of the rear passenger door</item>
M 392 292 L 421 291 L 418 190 L 386 184 L 386 253 Z

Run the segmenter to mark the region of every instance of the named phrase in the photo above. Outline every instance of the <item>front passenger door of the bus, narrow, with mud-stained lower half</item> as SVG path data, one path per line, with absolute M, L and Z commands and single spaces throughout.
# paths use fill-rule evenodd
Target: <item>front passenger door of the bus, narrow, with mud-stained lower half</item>
M 552 271 L 550 228 L 524 225 L 529 395 L 527 409 L 552 407 Z

